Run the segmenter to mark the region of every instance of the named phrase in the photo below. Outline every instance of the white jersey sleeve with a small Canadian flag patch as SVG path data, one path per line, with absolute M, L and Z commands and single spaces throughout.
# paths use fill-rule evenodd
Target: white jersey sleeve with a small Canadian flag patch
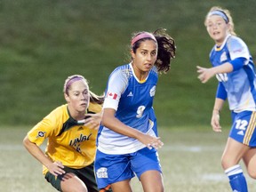
M 128 77 L 124 75 L 123 71 L 120 68 L 115 70 L 108 79 L 108 88 L 103 108 L 114 108 L 117 110 L 119 100 L 127 84 Z

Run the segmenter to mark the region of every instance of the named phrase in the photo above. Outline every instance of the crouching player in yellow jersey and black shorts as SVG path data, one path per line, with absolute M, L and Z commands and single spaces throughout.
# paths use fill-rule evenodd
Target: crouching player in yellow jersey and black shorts
M 96 137 L 103 97 L 89 91 L 84 76 L 68 76 L 68 104 L 52 110 L 23 140 L 28 152 L 43 164 L 45 179 L 59 191 L 99 191 L 93 172 Z M 97 114 L 98 113 L 98 114 Z M 48 139 L 44 152 L 39 146 Z

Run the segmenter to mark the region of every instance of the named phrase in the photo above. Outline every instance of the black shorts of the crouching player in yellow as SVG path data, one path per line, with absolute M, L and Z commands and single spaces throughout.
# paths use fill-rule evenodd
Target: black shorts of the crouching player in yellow
M 94 175 L 94 165 L 90 164 L 82 169 L 72 169 L 69 167 L 64 167 L 64 170 L 66 173 L 72 172 L 74 173 L 80 180 L 83 180 L 85 186 L 87 187 L 88 191 L 90 192 L 98 192 L 99 189 L 97 188 L 97 183 L 95 180 L 95 175 Z M 64 177 L 65 174 L 59 175 L 57 179 L 55 178 L 54 175 L 52 175 L 51 172 L 47 172 L 45 174 L 45 180 L 50 182 L 54 188 L 57 190 L 61 191 L 60 188 L 60 182 L 62 178 Z

